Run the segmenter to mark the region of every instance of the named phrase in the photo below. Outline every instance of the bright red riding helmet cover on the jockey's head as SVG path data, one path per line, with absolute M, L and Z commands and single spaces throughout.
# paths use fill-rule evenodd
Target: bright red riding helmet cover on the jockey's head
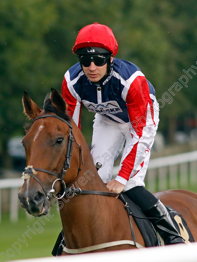
M 85 26 L 79 31 L 75 45 L 73 46 L 73 53 L 75 54 L 79 48 L 92 46 L 107 49 L 113 56 L 118 52 L 118 43 L 112 30 L 98 23 Z

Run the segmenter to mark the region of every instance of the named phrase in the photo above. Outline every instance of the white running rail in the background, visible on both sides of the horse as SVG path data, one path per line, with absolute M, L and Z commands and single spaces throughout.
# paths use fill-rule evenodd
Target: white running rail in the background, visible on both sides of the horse
M 114 167 L 113 178 L 118 174 L 119 167 Z M 2 215 L 2 190 L 10 190 L 10 220 L 18 220 L 18 190 L 23 184 L 21 178 L 0 180 L 0 221 Z M 197 151 L 173 156 L 155 158 L 149 161 L 145 177 L 146 188 L 151 192 L 186 188 L 188 185 L 197 186 Z M 197 261 L 197 260 L 196 260 Z

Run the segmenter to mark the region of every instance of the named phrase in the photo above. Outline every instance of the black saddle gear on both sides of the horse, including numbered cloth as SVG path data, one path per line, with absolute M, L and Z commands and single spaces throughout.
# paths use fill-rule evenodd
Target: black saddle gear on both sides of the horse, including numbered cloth
M 139 206 L 137 206 L 132 200 L 130 200 L 130 198 L 126 196 L 124 192 L 119 194 L 119 199 L 124 203 L 125 208 L 128 212 L 128 215 L 134 218 L 134 221 L 136 225 L 138 226 L 139 231 L 144 238 L 145 247 L 154 247 L 154 246 L 164 245 L 164 241 L 162 240 L 161 236 L 155 230 L 154 226 L 149 221 L 149 219 L 141 211 Z M 169 215 L 176 229 L 178 230 L 179 234 L 184 238 L 185 242 L 186 243 L 195 242 L 194 237 L 189 227 L 187 226 L 187 223 L 184 220 L 183 216 L 170 206 L 166 206 L 166 208 L 169 212 Z M 129 221 L 130 221 L 130 218 L 129 218 Z M 130 226 L 131 226 L 131 232 L 133 235 L 133 239 L 135 239 L 131 223 L 130 223 Z M 61 255 L 62 250 L 63 250 L 62 246 L 64 246 L 63 230 L 58 235 L 58 239 L 56 240 L 56 243 L 54 245 L 52 255 L 53 256 Z

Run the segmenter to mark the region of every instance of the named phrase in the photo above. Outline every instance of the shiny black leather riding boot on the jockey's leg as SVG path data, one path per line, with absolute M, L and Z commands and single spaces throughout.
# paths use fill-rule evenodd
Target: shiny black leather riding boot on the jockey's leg
M 156 230 L 158 230 L 166 245 L 185 243 L 176 230 L 168 210 L 160 199 L 158 199 L 154 206 L 145 211 L 144 215 L 148 218 L 151 217 L 149 220 L 153 223 Z M 158 220 L 155 220 L 154 217 L 158 218 Z

